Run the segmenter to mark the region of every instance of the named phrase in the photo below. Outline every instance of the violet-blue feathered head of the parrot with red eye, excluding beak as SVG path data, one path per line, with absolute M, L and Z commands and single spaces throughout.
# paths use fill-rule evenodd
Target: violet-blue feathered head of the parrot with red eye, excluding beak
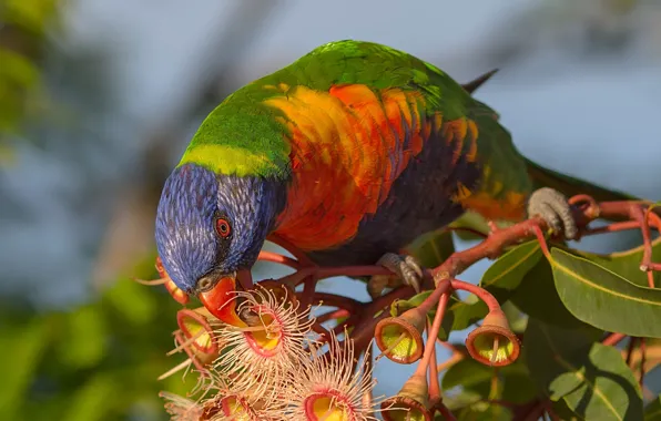
M 185 164 L 166 179 L 156 214 L 156 248 L 186 294 L 214 289 L 250 270 L 284 207 L 286 191 L 257 176 L 221 175 Z

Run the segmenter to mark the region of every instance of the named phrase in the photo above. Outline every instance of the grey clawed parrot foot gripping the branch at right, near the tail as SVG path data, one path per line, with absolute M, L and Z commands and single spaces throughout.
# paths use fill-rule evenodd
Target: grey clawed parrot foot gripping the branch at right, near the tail
M 553 188 L 539 188 L 530 195 L 528 216 L 535 215 L 546 220 L 553 232 L 563 232 L 567 239 L 572 239 L 578 234 L 567 197 Z

